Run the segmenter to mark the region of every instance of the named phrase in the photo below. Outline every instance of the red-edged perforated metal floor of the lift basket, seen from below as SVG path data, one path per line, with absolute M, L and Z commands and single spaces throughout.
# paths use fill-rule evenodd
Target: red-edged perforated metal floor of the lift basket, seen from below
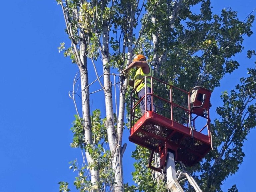
M 131 128 L 129 140 L 159 153 L 165 142 L 168 150 L 175 152 L 175 160 L 193 166 L 211 149 L 210 137 L 171 121 L 152 111 L 147 111 Z

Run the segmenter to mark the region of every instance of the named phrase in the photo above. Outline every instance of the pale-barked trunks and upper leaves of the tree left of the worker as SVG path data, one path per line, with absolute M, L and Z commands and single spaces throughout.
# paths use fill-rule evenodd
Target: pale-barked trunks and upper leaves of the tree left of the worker
M 136 1 L 132 3 L 129 1 L 122 3 L 116 1 L 112 2 L 111 6 L 108 7 L 109 1 L 101 1 L 98 3 L 98 1 L 85 2 L 78 0 L 58 0 L 57 2 L 62 7 L 64 19 L 66 22 L 66 32 L 71 39 L 71 48 L 66 49 L 64 54 L 65 56 L 71 57 L 72 61 L 78 65 L 80 72 L 83 119 L 80 118 L 78 110 L 77 116 L 84 129 L 84 136 L 82 139 L 83 145 L 78 144 L 78 146 L 85 148 L 86 151 L 86 159 L 91 168 L 91 188 L 97 189 L 100 187 L 100 170 L 97 163 L 97 158 L 93 159 L 91 154 L 94 150 L 97 150 L 98 146 L 95 146 L 95 143 L 91 139 L 92 127 L 89 115 L 90 106 L 88 94 L 89 86 L 87 58 L 91 59 L 93 65 L 95 66 L 95 61 L 99 56 L 101 56 L 104 71 L 104 85 L 101 84 L 99 78 L 98 80 L 105 94 L 106 119 L 104 121 L 104 125 L 107 130 L 107 141 L 111 152 L 111 164 L 114 174 L 113 177 L 115 178 L 114 191 L 123 191 L 122 154 L 124 153 L 126 145 L 123 145 L 122 147 L 121 145 L 126 88 L 125 86 L 122 86 L 121 88 L 119 109 L 120 114 L 117 128 L 115 128 L 112 101 L 112 83 L 110 81 L 110 67 L 111 65 L 118 65 L 120 67 L 124 65 L 125 61 L 127 61 L 127 63 L 131 61 L 133 51 L 131 48 L 133 41 L 132 34 L 135 25 L 134 20 L 136 20 L 135 12 L 139 12 L 139 10 L 137 10 L 138 4 Z M 129 9 L 127 9 L 127 7 Z M 138 15 L 139 14 L 140 13 L 138 13 Z M 112 25 L 114 27 L 111 29 Z M 123 48 L 121 53 L 120 42 L 118 40 L 114 41 L 114 38 L 111 38 L 109 41 L 110 31 L 113 30 L 113 33 L 117 34 L 118 26 L 122 29 L 120 36 L 123 35 L 123 44 L 121 44 Z M 110 42 L 112 49 L 116 52 L 116 54 L 113 54 L 113 56 L 111 56 L 109 53 Z M 126 47 L 128 48 L 127 58 L 125 57 Z M 63 43 L 59 49 L 65 49 Z M 98 49 L 100 54 L 97 52 Z M 114 62 L 113 59 L 115 59 L 116 62 Z M 97 74 L 96 66 L 95 72 Z M 127 82 L 127 80 L 125 82 Z M 74 94 L 75 92 L 73 91 L 72 98 L 74 98 Z

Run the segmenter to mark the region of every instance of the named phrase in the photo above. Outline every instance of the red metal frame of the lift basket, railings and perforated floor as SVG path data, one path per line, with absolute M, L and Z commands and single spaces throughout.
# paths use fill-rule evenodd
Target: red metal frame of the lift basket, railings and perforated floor
M 130 111 L 130 136 L 129 140 L 133 143 L 136 143 L 140 146 L 146 147 L 152 151 L 150 159 L 149 159 L 149 168 L 152 168 L 156 171 L 161 171 L 163 166 L 165 165 L 167 151 L 172 151 L 175 154 L 175 160 L 182 161 L 185 165 L 193 166 L 197 162 L 199 162 L 211 149 L 211 134 L 210 134 L 210 117 L 209 117 L 209 106 L 207 104 L 203 105 L 203 109 L 207 110 L 208 115 L 203 116 L 200 115 L 202 109 L 197 108 L 197 110 L 191 111 L 191 105 L 195 103 L 191 103 L 191 91 L 187 92 L 175 86 L 172 86 L 168 83 L 165 83 L 161 80 L 158 80 L 154 77 L 144 77 L 141 82 L 146 82 L 146 78 L 151 78 L 151 93 L 146 93 L 143 98 L 141 98 L 138 102 L 135 102 L 135 90 L 136 87 L 131 92 L 131 111 Z M 169 101 L 164 98 L 161 98 L 154 94 L 153 85 L 155 82 L 160 82 L 168 87 L 170 87 L 169 93 Z M 145 83 L 146 85 L 146 83 Z M 178 104 L 174 103 L 173 101 L 173 92 L 178 90 L 183 94 L 187 94 L 188 98 L 188 109 Z M 209 103 L 210 99 L 210 91 L 207 89 L 202 88 L 203 93 L 207 94 L 207 102 Z M 164 117 L 158 112 L 147 111 L 146 105 L 146 95 L 151 95 L 151 109 L 153 109 L 154 99 L 159 99 L 165 103 L 170 105 L 170 118 Z M 145 110 L 146 113 L 143 114 L 139 119 L 135 116 L 135 109 L 139 107 L 139 103 L 142 100 L 145 100 Z M 199 101 L 196 103 L 199 104 Z M 174 118 L 174 108 L 178 108 L 182 110 L 184 114 L 196 114 L 197 116 L 194 117 L 191 122 L 192 125 L 195 126 L 196 121 L 198 121 L 198 117 L 200 116 L 203 119 L 206 119 L 206 125 L 204 125 L 200 131 L 193 130 L 193 138 L 191 138 L 191 128 L 189 127 L 188 120 L 184 118 L 187 123 L 180 123 L 177 122 Z M 156 106 L 157 108 L 157 106 Z M 193 108 L 192 108 L 193 109 Z M 196 111 L 197 113 L 194 113 Z M 200 113 L 200 114 L 198 114 Z M 135 122 L 135 119 L 137 120 Z M 201 119 L 200 119 L 201 121 Z M 202 133 L 202 131 L 207 127 L 208 135 Z M 153 153 L 159 153 L 160 156 L 160 166 L 158 168 L 152 166 L 153 161 Z

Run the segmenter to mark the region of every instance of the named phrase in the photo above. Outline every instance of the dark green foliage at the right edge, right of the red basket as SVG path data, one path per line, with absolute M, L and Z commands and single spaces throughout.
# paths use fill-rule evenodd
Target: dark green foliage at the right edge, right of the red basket
M 250 129 L 256 126 L 256 105 L 252 103 L 255 94 L 250 94 L 256 91 L 256 86 L 251 86 L 256 71 L 249 71 L 253 76 L 241 78 L 241 84 L 229 94 L 224 91 L 221 96 L 223 106 L 216 109 L 220 119 L 216 119 L 212 126 L 215 150 L 206 156 L 200 169 L 206 191 L 221 191 L 222 181 L 238 171 L 245 156 L 243 141 Z

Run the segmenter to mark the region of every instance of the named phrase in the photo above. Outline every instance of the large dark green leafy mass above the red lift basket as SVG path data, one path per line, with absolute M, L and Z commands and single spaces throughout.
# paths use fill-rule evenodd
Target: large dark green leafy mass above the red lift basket
M 171 26 L 166 9 L 160 8 L 159 15 L 166 17 L 162 16 L 155 24 L 157 26 L 148 23 L 148 32 L 141 42 L 144 47 L 150 47 L 152 33 L 159 34 L 157 55 L 166 59 L 162 63 L 152 60 L 157 78 L 166 82 L 172 80 L 174 85 L 181 85 L 185 90 L 197 85 L 213 90 L 220 85 L 225 73 L 231 73 L 239 66 L 231 57 L 243 49 L 243 35 L 252 34 L 250 27 L 254 16 L 244 23 L 231 9 L 223 9 L 220 16 L 212 15 L 209 1 L 202 1 L 201 13 L 197 14 L 191 11 L 195 2 L 190 3 L 183 5 L 181 14 Z M 154 14 L 157 17 L 157 11 Z M 154 52 L 145 51 L 148 58 L 153 58 Z

